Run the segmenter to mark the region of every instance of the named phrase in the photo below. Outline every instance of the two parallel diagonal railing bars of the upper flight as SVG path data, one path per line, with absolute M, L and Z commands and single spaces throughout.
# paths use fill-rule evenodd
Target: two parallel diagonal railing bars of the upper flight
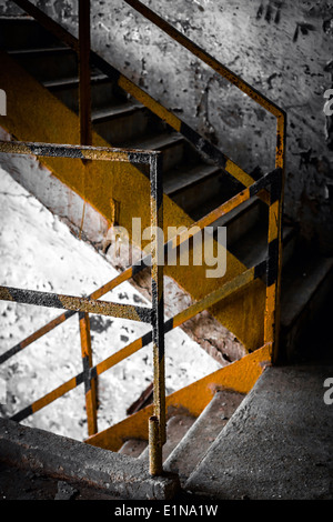
M 28 14 L 33 17 L 38 22 L 43 26 L 48 31 L 52 32 L 63 43 L 73 49 L 78 57 L 80 57 L 80 42 L 74 36 L 72 36 L 64 28 L 54 22 L 48 17 L 41 9 L 33 6 L 29 0 L 13 0 L 21 9 Z M 127 1 L 127 0 L 124 0 Z M 79 2 L 81 3 L 81 2 Z M 143 6 L 138 0 L 127 1 L 133 9 L 137 9 L 142 16 L 148 18 L 152 23 L 157 24 L 160 29 L 167 32 L 171 38 L 175 39 L 180 44 L 186 47 L 194 56 L 203 60 L 210 67 L 212 67 L 219 74 L 226 80 L 231 81 L 239 89 L 242 89 L 250 98 L 255 102 L 260 103 L 265 110 L 271 112 L 278 120 L 276 130 L 276 155 L 275 167 L 284 168 L 284 139 L 285 139 L 285 113 L 275 103 L 268 98 L 263 97 L 259 91 L 253 89 L 249 83 L 243 81 L 239 76 L 234 74 L 222 63 L 216 61 L 196 44 L 191 42 L 181 32 L 170 26 L 165 20 L 155 14 L 149 8 Z M 137 86 L 125 74 L 119 72 L 113 66 L 108 63 L 97 52 L 90 50 L 91 62 L 105 76 L 114 81 L 121 89 L 125 90 L 129 94 L 140 101 L 143 106 L 149 108 L 154 114 L 161 120 L 165 121 L 172 129 L 180 132 L 184 138 L 190 141 L 195 149 L 206 154 L 215 164 L 225 170 L 230 175 L 235 178 L 244 187 L 250 187 L 255 180 L 254 178 L 245 172 L 239 164 L 236 164 L 231 158 L 218 149 L 209 140 L 200 135 L 193 129 L 191 129 L 181 118 L 175 116 L 172 111 L 165 109 L 159 101 L 152 96 L 145 92 L 141 87 Z M 265 200 L 265 194 L 261 193 L 260 197 Z M 268 202 L 268 201 L 266 201 Z

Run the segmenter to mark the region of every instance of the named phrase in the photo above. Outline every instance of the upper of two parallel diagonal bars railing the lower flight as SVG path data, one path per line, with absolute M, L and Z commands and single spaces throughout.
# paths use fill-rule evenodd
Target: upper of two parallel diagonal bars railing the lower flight
M 235 207 L 238 207 L 239 204 L 243 203 L 244 201 L 248 201 L 249 198 L 252 198 L 253 195 L 255 195 L 260 190 L 262 190 L 263 188 L 268 187 L 268 184 L 270 184 L 272 178 L 274 175 L 278 175 L 278 173 L 280 173 L 281 169 L 275 169 L 274 171 L 272 172 L 269 172 L 266 173 L 265 175 L 263 175 L 260 180 L 258 180 L 255 183 L 253 183 L 253 185 L 251 185 L 249 189 L 245 189 L 241 192 L 239 192 L 238 194 L 235 194 L 233 198 L 231 198 L 231 200 L 222 203 L 220 207 L 218 207 L 216 209 L 214 209 L 213 211 L 211 211 L 209 214 L 206 214 L 205 217 L 201 218 L 199 221 L 196 221 L 195 223 L 193 223 L 191 225 L 191 228 L 189 229 L 189 232 L 191 230 L 193 230 L 194 227 L 198 227 L 199 229 L 204 229 L 205 227 L 209 227 L 210 224 L 212 224 L 214 221 L 216 221 L 216 219 L 221 218 L 222 215 L 225 215 L 228 212 L 230 212 L 231 210 L 233 210 Z M 186 239 L 186 234 L 183 233 L 183 234 L 179 234 L 176 235 L 175 238 L 171 239 L 169 242 L 167 242 L 164 244 L 164 252 L 168 252 L 168 249 L 169 249 L 169 245 L 172 243 L 173 248 L 176 248 L 181 244 L 182 242 L 182 239 L 185 240 Z M 114 279 L 112 279 L 111 281 L 109 281 L 108 283 L 103 284 L 102 287 L 100 287 L 98 290 L 95 290 L 94 292 L 92 292 L 89 298 L 90 299 L 99 299 L 101 298 L 102 295 L 104 295 L 105 293 L 110 292 L 111 290 L 113 290 L 115 287 L 118 287 L 119 284 L 121 284 L 122 282 L 125 282 L 128 281 L 129 279 L 131 279 L 133 275 L 135 275 L 137 273 L 140 273 L 144 268 L 147 268 L 147 265 L 150 263 L 151 261 L 151 257 L 150 254 L 149 255 L 145 255 L 144 258 L 142 258 L 138 264 L 133 265 L 133 267 L 130 267 L 129 269 L 125 269 L 122 273 L 120 273 L 119 275 L 117 275 Z M 18 353 L 19 351 L 23 350 L 24 348 L 27 348 L 28 345 L 30 345 L 33 341 L 36 341 L 37 339 L 40 339 L 42 335 L 44 335 L 46 333 L 48 333 L 49 331 L 51 331 L 53 328 L 58 327 L 59 324 L 62 324 L 64 321 L 67 321 L 69 318 L 71 318 L 75 312 L 71 312 L 71 311 L 68 311 L 65 313 L 62 313 L 61 315 L 59 315 L 58 318 L 53 319 L 52 321 L 50 321 L 48 324 L 46 324 L 44 327 L 40 328 L 39 330 L 37 330 L 34 333 L 32 333 L 31 335 L 29 335 L 28 338 L 26 338 L 23 341 L 21 341 L 19 344 L 12 347 L 11 349 L 9 349 L 6 353 L 3 353 L 2 355 L 0 355 L 0 364 L 2 364 L 4 361 L 7 361 L 8 359 L 10 359 L 11 357 L 13 357 L 16 353 Z

